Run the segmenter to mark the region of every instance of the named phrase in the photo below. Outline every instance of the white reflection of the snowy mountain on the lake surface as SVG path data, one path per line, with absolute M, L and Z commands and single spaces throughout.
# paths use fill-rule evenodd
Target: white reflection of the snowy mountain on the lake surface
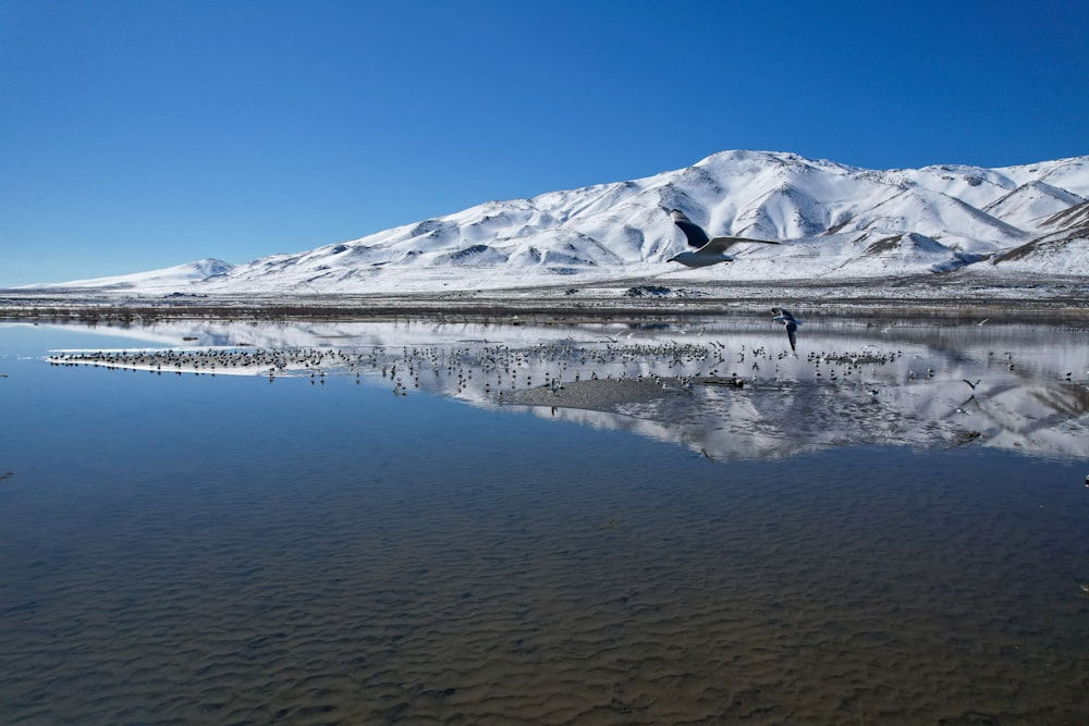
M 803 327 L 796 356 L 770 316 L 690 327 L 208 321 L 126 332 L 188 350 L 316 352 L 323 357 L 307 374 L 362 374 L 405 395 L 487 407 L 553 386 L 549 405 L 533 408 L 538 415 L 632 431 L 711 458 L 865 443 L 1089 457 L 1084 342 L 1041 325 L 813 320 Z M 707 384 L 734 376 L 744 387 Z M 560 387 L 594 380 L 654 382 L 668 395 L 576 402 Z

